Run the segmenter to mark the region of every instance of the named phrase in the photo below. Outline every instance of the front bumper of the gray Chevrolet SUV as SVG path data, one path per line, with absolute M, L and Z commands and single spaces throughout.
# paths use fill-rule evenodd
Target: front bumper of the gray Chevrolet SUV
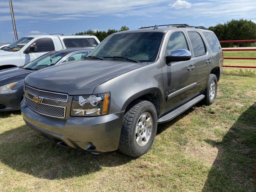
M 46 117 L 21 103 L 26 124 L 53 143 L 91 152 L 118 149 L 124 111 L 98 117 L 73 117 L 61 120 Z

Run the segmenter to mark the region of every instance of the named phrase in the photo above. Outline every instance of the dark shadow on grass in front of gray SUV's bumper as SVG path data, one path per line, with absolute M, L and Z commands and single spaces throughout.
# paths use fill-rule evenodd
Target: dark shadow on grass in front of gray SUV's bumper
M 123 165 L 133 159 L 121 152 L 94 155 L 59 146 L 40 137 L 27 125 L 0 134 L 0 161 L 38 178 L 72 178 L 97 172 L 102 167 Z

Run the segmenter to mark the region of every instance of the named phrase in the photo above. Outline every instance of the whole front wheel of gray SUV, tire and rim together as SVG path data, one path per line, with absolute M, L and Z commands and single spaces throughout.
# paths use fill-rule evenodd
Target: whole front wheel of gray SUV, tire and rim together
M 129 156 L 140 157 L 152 146 L 157 130 L 155 106 L 135 100 L 125 110 L 118 149 Z

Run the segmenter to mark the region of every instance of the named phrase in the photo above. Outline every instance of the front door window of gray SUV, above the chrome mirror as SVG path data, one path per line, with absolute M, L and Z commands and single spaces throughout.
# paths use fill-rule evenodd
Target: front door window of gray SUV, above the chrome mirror
M 170 55 L 171 52 L 176 49 L 188 50 L 187 42 L 182 32 L 174 33 L 169 38 L 169 42 L 167 45 L 168 55 Z

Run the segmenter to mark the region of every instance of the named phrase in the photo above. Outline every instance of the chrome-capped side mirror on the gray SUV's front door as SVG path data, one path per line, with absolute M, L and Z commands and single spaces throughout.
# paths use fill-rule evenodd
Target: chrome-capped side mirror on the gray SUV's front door
M 174 61 L 188 61 L 191 59 L 191 53 L 189 50 L 186 49 L 176 49 L 171 52 L 170 56 L 165 56 L 167 61 L 167 65 L 171 66 L 170 62 Z

